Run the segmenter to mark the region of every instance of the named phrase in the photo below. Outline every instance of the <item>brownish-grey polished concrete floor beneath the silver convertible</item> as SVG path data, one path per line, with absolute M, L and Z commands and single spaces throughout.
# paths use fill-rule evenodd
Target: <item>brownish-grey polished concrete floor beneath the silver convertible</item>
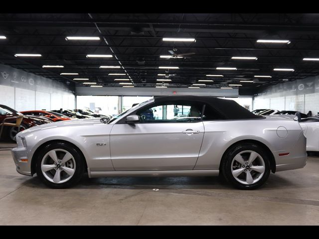
M 2 150 L 0 225 L 319 225 L 319 157 L 254 191 L 218 177 L 85 177 L 53 190 L 18 174 Z

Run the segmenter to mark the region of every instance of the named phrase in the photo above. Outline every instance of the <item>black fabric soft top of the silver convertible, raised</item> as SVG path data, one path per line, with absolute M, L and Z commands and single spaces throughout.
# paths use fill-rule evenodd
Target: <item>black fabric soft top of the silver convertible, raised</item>
M 223 116 L 224 119 L 264 119 L 264 117 L 251 113 L 233 100 L 224 100 L 212 96 L 161 96 L 154 98 L 156 103 L 176 100 L 205 103 Z

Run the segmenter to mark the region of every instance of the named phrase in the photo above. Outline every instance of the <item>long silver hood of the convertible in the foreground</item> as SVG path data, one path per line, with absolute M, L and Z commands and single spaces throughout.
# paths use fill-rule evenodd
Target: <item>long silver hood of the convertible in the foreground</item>
M 26 130 L 23 130 L 17 134 L 17 136 L 25 136 L 29 133 L 34 133 L 39 130 L 46 130 L 50 128 L 55 127 L 61 127 L 61 130 L 63 130 L 64 127 L 74 127 L 74 126 L 90 126 L 93 124 L 100 124 L 101 121 L 98 118 L 94 119 L 78 119 L 78 120 L 64 120 L 64 121 L 58 121 L 53 123 L 46 123 L 41 124 L 35 127 L 28 128 Z

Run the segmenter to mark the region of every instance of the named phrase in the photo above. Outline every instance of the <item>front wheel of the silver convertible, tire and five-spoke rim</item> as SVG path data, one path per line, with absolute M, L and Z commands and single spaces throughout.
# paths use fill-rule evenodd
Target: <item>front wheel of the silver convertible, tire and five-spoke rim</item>
M 84 158 L 72 145 L 53 142 L 38 154 L 36 173 L 51 188 L 68 188 L 83 176 Z

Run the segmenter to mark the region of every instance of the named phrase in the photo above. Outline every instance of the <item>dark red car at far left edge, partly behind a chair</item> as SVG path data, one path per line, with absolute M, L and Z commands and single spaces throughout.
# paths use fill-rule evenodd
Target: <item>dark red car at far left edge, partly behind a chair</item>
M 8 106 L 0 105 L 0 123 L 5 118 L 21 116 L 21 115 L 23 115 L 23 119 L 20 126 L 19 127 L 4 126 L 1 138 L 8 138 L 15 141 L 15 135 L 18 132 L 33 126 L 52 122 L 51 119 L 46 119 L 44 117 L 42 118 L 42 117 L 24 115 L 13 110 L 12 108 Z M 15 123 L 15 121 L 16 121 L 15 119 L 5 120 L 5 122 L 8 122 L 8 123 Z

